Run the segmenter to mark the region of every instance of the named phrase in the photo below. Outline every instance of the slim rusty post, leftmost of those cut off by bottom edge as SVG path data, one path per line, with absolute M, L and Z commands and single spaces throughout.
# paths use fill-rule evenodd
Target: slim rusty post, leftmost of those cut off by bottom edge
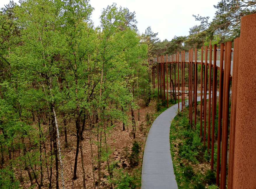
M 225 42 L 224 46 L 224 69 L 223 69 L 223 100 L 222 100 L 222 138 L 221 138 L 221 167 L 220 167 L 220 188 L 222 187 L 222 170 L 223 170 L 223 140 L 224 140 L 224 116 L 225 116 L 225 89 L 226 89 L 226 69 L 227 67 L 227 42 Z

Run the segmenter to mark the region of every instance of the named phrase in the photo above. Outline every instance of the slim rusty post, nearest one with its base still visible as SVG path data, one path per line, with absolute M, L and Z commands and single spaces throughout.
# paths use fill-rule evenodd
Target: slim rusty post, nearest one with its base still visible
M 221 120 L 222 120 L 222 100 L 223 100 L 223 60 L 224 60 L 224 43 L 221 43 L 220 44 L 217 171 L 216 171 L 216 184 L 218 186 L 220 186 L 220 138 L 222 137 L 222 135 L 221 135 Z

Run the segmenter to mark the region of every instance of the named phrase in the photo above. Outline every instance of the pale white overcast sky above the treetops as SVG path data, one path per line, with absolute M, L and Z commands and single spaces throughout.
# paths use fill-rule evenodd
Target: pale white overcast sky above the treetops
M 92 0 L 89 3 L 94 7 L 91 16 L 94 26 L 100 25 L 99 17 L 102 9 L 115 2 L 118 7 L 126 7 L 130 12 L 135 11 L 136 20 L 138 21 L 137 27 L 140 33 L 145 33 L 145 29 L 151 26 L 154 33 L 158 32 L 157 37 L 160 40 L 167 39 L 170 41 L 174 35 L 188 35 L 189 28 L 200 24 L 200 22 L 195 21 L 193 14 L 210 16 L 211 20 L 217 10 L 213 5 L 217 5 L 218 1 L 220 0 Z M 4 4 L 8 4 L 8 2 L 9 0 L 0 0 L 0 7 L 4 7 Z M 14 0 L 14 2 L 18 2 L 18 0 Z

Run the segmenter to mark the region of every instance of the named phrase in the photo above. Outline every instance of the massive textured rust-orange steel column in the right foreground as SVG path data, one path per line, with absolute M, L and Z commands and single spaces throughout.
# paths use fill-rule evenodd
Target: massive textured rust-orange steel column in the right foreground
M 256 188 L 255 31 L 256 14 L 242 17 L 237 81 L 234 189 Z

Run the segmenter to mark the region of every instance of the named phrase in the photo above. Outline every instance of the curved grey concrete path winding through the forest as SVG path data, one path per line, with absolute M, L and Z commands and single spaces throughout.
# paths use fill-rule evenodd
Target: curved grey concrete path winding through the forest
M 197 101 L 200 100 L 201 97 L 197 97 Z M 187 105 L 188 101 L 185 103 Z M 178 189 L 169 140 L 171 120 L 177 115 L 177 110 L 178 103 L 161 113 L 149 130 L 143 156 L 141 189 Z

